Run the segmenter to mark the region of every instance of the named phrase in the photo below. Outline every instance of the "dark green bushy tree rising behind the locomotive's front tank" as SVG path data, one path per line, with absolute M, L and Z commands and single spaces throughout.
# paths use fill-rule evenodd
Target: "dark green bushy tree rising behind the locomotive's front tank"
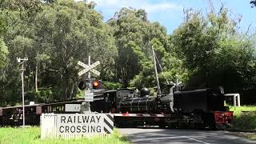
M 224 86 L 235 92 L 256 83 L 254 43 L 236 30 L 240 20 L 230 19 L 222 7 L 207 18 L 186 11 L 185 22 L 172 35 L 172 44 L 189 69 L 190 89 Z M 254 83 L 254 84 L 253 84 Z

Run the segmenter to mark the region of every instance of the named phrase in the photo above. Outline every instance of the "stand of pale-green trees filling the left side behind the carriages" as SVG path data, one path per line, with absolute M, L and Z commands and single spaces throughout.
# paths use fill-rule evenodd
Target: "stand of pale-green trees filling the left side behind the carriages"
M 26 101 L 74 98 L 79 79 L 77 62 L 87 62 L 88 55 L 92 62 L 101 61 L 98 70 L 102 80 L 114 78 L 114 38 L 102 15 L 93 10 L 93 3 L 7 0 L 0 8 L 0 20 L 9 26 L 2 33 L 9 50 L 0 85 L 5 105 L 20 102 L 17 57 L 29 58 L 25 65 Z

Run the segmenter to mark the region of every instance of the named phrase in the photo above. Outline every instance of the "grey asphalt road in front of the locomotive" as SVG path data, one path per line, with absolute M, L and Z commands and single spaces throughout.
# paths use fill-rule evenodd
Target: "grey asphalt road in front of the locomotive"
M 226 131 L 178 130 L 158 128 L 119 128 L 121 134 L 128 136 L 132 143 L 204 143 L 204 144 L 246 144 L 256 141 L 246 140 Z

